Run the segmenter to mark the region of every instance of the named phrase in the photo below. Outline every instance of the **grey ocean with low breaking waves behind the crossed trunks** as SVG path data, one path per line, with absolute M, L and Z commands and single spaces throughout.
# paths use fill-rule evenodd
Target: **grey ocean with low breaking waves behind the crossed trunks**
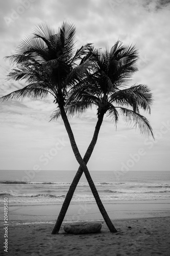
M 76 171 L 0 170 L 0 205 L 62 204 Z M 170 172 L 92 171 L 91 177 L 103 202 L 170 199 Z M 95 202 L 83 174 L 72 204 Z M 170 201 L 169 201 L 170 202 Z

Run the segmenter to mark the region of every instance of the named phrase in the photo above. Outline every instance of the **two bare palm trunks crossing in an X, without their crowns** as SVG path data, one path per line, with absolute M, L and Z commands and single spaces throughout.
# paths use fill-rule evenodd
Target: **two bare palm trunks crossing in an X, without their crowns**
M 65 125 L 65 128 L 66 128 L 66 131 L 68 133 L 68 136 L 69 136 L 69 140 L 70 140 L 70 143 L 71 143 L 71 147 L 72 147 L 72 150 L 74 151 L 74 154 L 76 156 L 76 159 L 77 161 L 79 162 L 80 164 L 80 167 L 78 169 L 78 172 L 76 173 L 76 176 L 74 178 L 74 180 L 72 181 L 70 187 L 69 187 L 69 190 L 67 192 L 67 195 L 65 197 L 65 200 L 64 200 L 64 203 L 62 205 L 62 208 L 60 210 L 60 214 L 58 216 L 58 219 L 57 219 L 57 222 L 53 228 L 53 231 L 52 231 L 52 234 L 58 234 L 59 230 L 60 230 L 60 227 L 61 227 L 61 224 L 63 222 L 63 219 L 65 217 L 65 214 L 66 214 L 66 211 L 68 209 L 68 206 L 70 204 L 70 201 L 72 199 L 72 196 L 74 195 L 74 192 L 75 192 L 75 189 L 77 187 L 77 184 L 84 172 L 85 176 L 86 176 L 86 179 L 89 183 L 89 186 L 91 188 L 91 191 L 92 191 L 92 194 L 95 198 L 95 201 L 101 211 L 101 214 L 110 230 L 110 232 L 117 232 L 117 230 L 115 229 L 115 227 L 113 226 L 105 208 L 104 208 L 104 205 L 99 197 L 99 194 L 98 194 L 98 191 L 96 190 L 95 188 L 95 185 L 91 179 L 91 176 L 90 176 L 90 173 L 88 171 L 88 168 L 86 166 L 92 152 L 93 152 L 93 148 L 96 144 L 96 141 L 98 139 L 98 135 L 99 135 L 99 131 L 100 131 L 100 127 L 101 127 L 101 124 L 103 122 L 103 117 L 104 117 L 104 114 L 105 113 L 100 113 L 99 117 L 98 117 L 98 122 L 96 123 L 96 126 L 95 126 L 95 131 L 94 131 L 94 134 L 93 134 L 93 138 L 91 140 L 91 143 L 86 151 L 86 154 L 84 156 L 84 158 L 82 159 L 80 153 L 79 153 L 79 150 L 78 150 L 78 147 L 76 145 L 76 141 L 75 141 L 75 138 L 74 138 L 74 135 L 72 134 L 72 130 L 71 130 L 71 127 L 70 127 L 70 124 L 68 122 L 68 119 L 67 119 L 67 116 L 65 114 L 65 111 L 63 108 L 60 108 L 61 110 L 61 116 L 62 116 L 62 119 L 64 121 L 64 125 Z

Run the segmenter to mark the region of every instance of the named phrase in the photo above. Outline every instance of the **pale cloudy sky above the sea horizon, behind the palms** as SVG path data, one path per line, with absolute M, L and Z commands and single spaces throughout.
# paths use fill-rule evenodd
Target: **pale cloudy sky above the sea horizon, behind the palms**
M 139 49 L 134 83 L 147 84 L 154 95 L 149 118 L 155 141 L 120 120 L 117 130 L 105 118 L 89 170 L 169 170 L 169 0 L 6 0 L 0 2 L 0 96 L 23 87 L 7 81 L 11 67 L 3 58 L 19 41 L 45 22 L 58 31 L 63 20 L 77 28 L 77 48 L 87 42 L 111 48 L 117 39 Z M 51 121 L 53 99 L 0 103 L 0 169 L 75 170 L 78 163 L 62 120 Z M 143 113 L 142 113 L 143 114 Z M 70 119 L 83 156 L 92 138 L 96 111 Z

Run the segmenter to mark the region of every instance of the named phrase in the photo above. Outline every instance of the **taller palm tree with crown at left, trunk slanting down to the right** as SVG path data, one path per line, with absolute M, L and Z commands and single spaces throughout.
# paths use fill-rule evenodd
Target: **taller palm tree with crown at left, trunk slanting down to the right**
M 25 79 L 26 83 L 29 84 L 2 97 L 2 99 L 22 99 L 26 96 L 43 99 L 49 94 L 54 97 L 54 103 L 60 110 L 72 150 L 86 175 L 95 201 L 110 231 L 116 232 L 117 230 L 113 226 L 91 179 L 86 163 L 79 153 L 64 109 L 72 87 L 81 83 L 81 80 L 86 77 L 86 73 L 90 72 L 92 68 L 92 61 L 89 58 L 92 49 L 91 44 L 81 47 L 75 53 L 75 33 L 75 26 L 68 22 L 63 23 L 58 33 L 47 25 L 41 24 L 34 30 L 32 36 L 22 40 L 16 54 L 7 57 L 16 64 L 16 67 L 8 74 L 8 79 L 16 81 Z

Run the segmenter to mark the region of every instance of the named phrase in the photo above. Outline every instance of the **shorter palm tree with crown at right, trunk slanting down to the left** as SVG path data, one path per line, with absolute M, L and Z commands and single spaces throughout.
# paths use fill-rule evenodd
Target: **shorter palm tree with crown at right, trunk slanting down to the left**
M 141 133 L 153 136 L 149 121 L 139 113 L 139 109 L 151 113 L 153 98 L 150 89 L 143 84 L 135 84 L 126 88 L 133 73 L 137 71 L 138 53 L 135 47 L 123 46 L 121 42 L 117 41 L 110 52 L 109 50 L 105 52 L 94 50 L 94 56 L 95 68 L 93 66 L 93 70 L 86 73 L 87 76 L 84 80 L 72 88 L 71 96 L 68 98 L 67 106 L 65 106 L 66 112 L 71 116 L 83 113 L 93 104 L 98 108 L 98 122 L 83 158 L 86 164 L 98 139 L 105 114 L 111 116 L 115 124 L 121 114 L 125 121 L 134 123 L 135 126 L 138 125 Z M 56 111 L 52 118 L 58 118 L 59 115 L 60 112 Z M 52 233 L 58 233 L 82 174 L 83 169 L 80 166 L 70 185 Z

